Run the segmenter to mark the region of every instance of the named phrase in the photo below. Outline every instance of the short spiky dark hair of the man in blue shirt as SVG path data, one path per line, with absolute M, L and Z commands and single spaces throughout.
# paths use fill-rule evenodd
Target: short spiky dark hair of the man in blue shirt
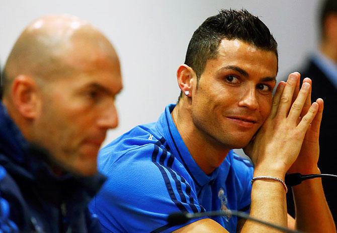
M 186 52 L 185 64 L 199 81 L 207 60 L 216 58 L 223 39 L 239 39 L 257 48 L 272 51 L 278 57 L 277 42 L 268 27 L 246 10 L 221 10 L 207 18 L 194 32 Z

